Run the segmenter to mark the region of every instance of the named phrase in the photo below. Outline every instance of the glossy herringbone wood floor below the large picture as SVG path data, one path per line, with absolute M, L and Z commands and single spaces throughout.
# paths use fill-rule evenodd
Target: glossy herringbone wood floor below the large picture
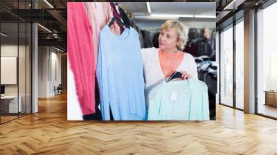
M 66 95 L 0 125 L 0 154 L 277 154 L 277 121 L 217 105 L 206 122 L 69 122 Z

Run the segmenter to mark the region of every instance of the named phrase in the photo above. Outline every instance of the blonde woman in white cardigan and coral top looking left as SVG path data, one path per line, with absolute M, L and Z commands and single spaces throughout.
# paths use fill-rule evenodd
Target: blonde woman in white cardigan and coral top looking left
M 175 71 L 182 73 L 182 80 L 198 79 L 193 56 L 182 52 L 187 39 L 188 27 L 178 20 L 168 20 L 160 28 L 159 48 L 142 49 L 145 97 Z

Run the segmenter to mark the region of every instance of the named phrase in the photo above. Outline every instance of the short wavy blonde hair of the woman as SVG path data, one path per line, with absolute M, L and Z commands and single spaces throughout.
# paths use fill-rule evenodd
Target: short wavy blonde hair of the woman
M 169 30 L 170 28 L 176 28 L 177 30 L 177 49 L 183 50 L 186 42 L 188 41 L 188 26 L 181 24 L 176 19 L 167 20 L 161 25 L 161 30 Z

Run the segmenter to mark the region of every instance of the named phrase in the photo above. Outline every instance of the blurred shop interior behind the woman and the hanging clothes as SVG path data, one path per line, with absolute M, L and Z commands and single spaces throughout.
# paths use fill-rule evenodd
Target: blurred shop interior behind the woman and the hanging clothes
M 91 2 L 92 3 L 92 2 Z M 207 63 L 213 63 L 211 66 L 217 68 L 218 62 L 215 59 L 215 6 L 216 3 L 182 3 L 182 2 L 149 2 L 150 8 L 148 8 L 148 4 L 145 2 L 118 2 L 115 3 L 116 6 L 122 8 L 130 20 L 132 20 L 139 31 L 140 38 L 143 38 L 143 43 L 141 43 L 141 48 L 150 48 L 155 47 L 158 48 L 158 38 L 159 28 L 161 24 L 163 24 L 168 19 L 178 19 L 181 23 L 188 26 L 190 29 L 194 29 L 195 31 L 191 31 L 188 37 L 188 44 L 197 44 L 197 41 L 203 38 L 202 30 L 204 28 L 208 28 L 211 33 L 211 40 L 213 50 L 213 60 L 210 61 L 208 58 Z M 156 15 L 154 17 L 150 16 Z M 163 17 L 163 15 L 168 15 L 168 17 Z M 174 17 L 174 15 L 187 15 L 188 17 Z M 189 17 L 192 16 L 192 17 Z M 199 17 L 198 17 L 199 16 Z M 156 37 L 155 37 L 156 35 Z M 212 46 L 212 45 L 211 45 Z M 188 48 L 188 47 L 187 47 Z M 185 49 L 186 50 L 186 49 Z M 202 56 L 196 55 L 196 51 L 189 53 L 193 56 L 198 57 Z M 210 55 L 208 55 L 210 56 Z M 218 60 L 218 59 L 217 59 Z M 205 64 L 205 63 L 202 63 Z M 82 111 L 78 104 L 77 95 L 75 93 L 75 82 L 73 78 L 73 73 L 68 65 L 68 106 L 67 106 L 67 119 L 68 120 L 83 120 Z M 202 69 L 204 72 L 200 71 L 201 64 L 198 63 L 198 77 L 199 80 L 206 82 L 208 85 L 208 94 L 209 94 L 209 105 L 210 105 L 210 119 L 215 120 L 215 99 L 217 92 L 217 69 L 215 69 L 214 75 L 215 78 L 211 78 L 208 75 L 209 67 Z

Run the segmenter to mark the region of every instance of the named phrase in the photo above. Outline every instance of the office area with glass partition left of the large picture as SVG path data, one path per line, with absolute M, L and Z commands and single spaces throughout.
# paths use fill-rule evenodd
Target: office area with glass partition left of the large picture
M 66 93 L 66 1 L 55 5 L 60 12 L 42 10 L 44 1 L 0 1 L 1 124 L 39 112 L 37 100 L 54 97 L 59 84 Z

